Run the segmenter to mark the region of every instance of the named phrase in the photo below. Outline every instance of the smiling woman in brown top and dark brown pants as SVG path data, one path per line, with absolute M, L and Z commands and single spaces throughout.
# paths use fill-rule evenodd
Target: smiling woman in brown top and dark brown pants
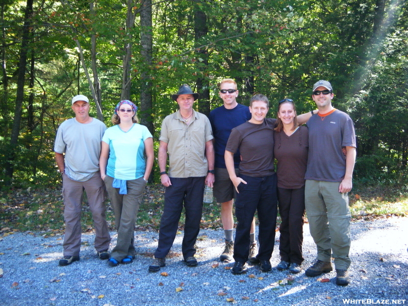
M 313 112 L 312 112 L 313 114 Z M 299 273 L 303 261 L 304 173 L 308 162 L 308 128 L 299 126 L 291 99 L 279 102 L 274 132 L 277 197 L 282 223 L 278 270 Z

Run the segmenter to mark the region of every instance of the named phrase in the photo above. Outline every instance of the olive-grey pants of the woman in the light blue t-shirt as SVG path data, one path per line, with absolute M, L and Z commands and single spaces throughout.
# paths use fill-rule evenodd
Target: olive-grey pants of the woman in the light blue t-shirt
M 134 228 L 146 182 L 143 177 L 126 181 L 127 194 L 119 194 L 119 188 L 112 187 L 113 177 L 107 175 L 104 181 L 111 198 L 118 231 L 116 246 L 111 252 L 111 257 L 120 262 L 126 256 L 134 257 L 136 255 Z

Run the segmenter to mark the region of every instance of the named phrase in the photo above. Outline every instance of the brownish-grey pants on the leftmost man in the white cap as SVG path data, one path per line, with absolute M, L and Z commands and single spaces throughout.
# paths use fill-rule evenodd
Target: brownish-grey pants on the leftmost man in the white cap
M 89 209 L 95 226 L 95 249 L 103 251 L 109 249 L 111 236 L 106 222 L 106 206 L 104 183 L 96 172 L 86 182 L 71 180 L 62 174 L 62 195 L 64 197 L 64 256 L 79 256 L 81 248 L 81 209 L 84 190 L 88 198 Z

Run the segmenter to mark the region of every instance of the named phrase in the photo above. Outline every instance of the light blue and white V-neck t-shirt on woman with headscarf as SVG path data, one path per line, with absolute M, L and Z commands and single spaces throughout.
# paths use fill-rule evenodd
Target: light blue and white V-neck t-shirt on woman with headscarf
M 144 141 L 152 137 L 146 126 L 134 123 L 123 132 L 119 125 L 106 130 L 102 141 L 109 144 L 106 174 L 119 180 L 136 180 L 144 175 Z

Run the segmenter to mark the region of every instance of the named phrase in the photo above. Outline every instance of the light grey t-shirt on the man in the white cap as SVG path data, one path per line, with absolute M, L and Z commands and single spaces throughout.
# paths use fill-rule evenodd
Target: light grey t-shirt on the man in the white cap
M 100 141 L 105 130 L 105 123 L 95 118 L 86 124 L 75 118 L 62 122 L 54 151 L 65 153 L 65 174 L 71 180 L 85 182 L 99 171 Z

